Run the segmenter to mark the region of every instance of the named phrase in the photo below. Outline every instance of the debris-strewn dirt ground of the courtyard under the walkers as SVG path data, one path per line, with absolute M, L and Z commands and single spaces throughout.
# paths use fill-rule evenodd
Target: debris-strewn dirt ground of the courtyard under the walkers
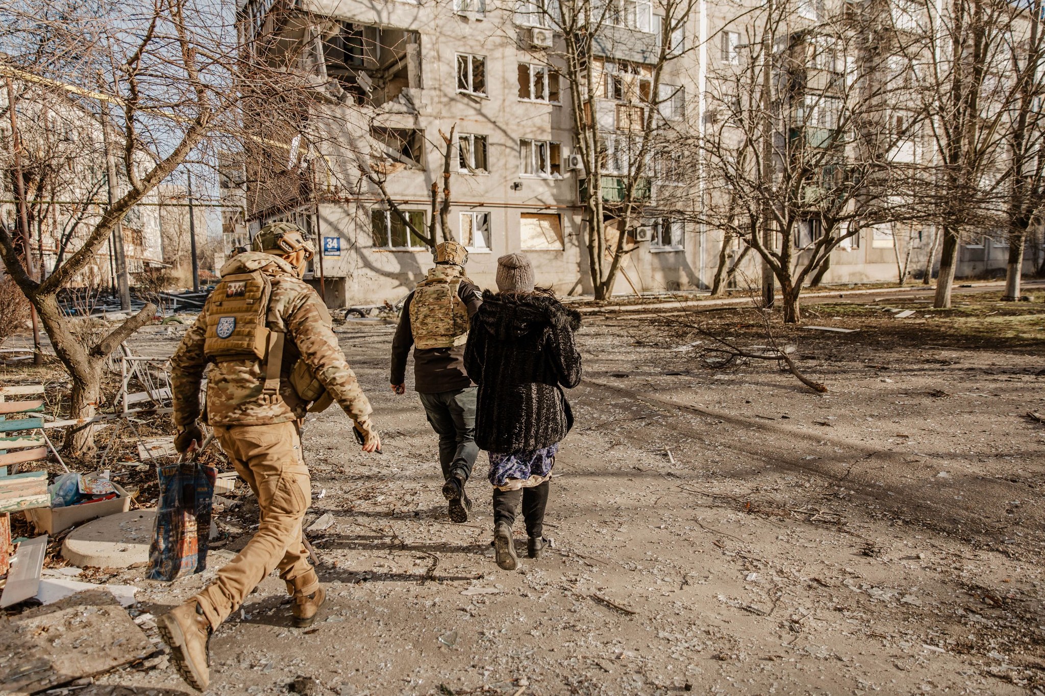
M 388 388 L 394 327 L 350 320 L 339 336 L 386 445 L 361 453 L 334 409 L 307 424 L 309 521 L 334 518 L 309 535 L 331 603 L 294 629 L 268 578 L 214 634 L 211 691 L 1045 694 L 1045 426 L 1026 415 L 1045 412 L 1045 304 L 997 298 L 820 298 L 807 323 L 859 331 L 774 334 L 826 393 L 774 361 L 702 364 L 680 322 L 765 344 L 749 309 L 586 308 L 555 548 L 512 573 L 492 560 L 485 456 L 455 525 L 417 397 Z M 164 328 L 134 347 L 177 340 Z M 97 577 L 162 613 L 248 538 L 256 505 L 236 501 L 211 570 Z M 187 692 L 161 666 L 72 693 Z

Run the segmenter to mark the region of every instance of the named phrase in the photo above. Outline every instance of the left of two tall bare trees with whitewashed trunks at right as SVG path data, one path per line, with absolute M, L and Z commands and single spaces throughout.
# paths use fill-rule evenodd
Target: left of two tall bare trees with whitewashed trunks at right
M 899 48 L 920 67 L 916 94 L 933 152 L 913 191 L 926 219 L 939 227 L 934 306 L 943 308 L 951 305 L 962 235 L 1004 226 L 1006 123 L 1025 83 L 1012 75 L 1007 37 L 1020 10 L 1004 0 L 910 7 L 925 24 L 919 19 L 919 30 L 898 32 Z

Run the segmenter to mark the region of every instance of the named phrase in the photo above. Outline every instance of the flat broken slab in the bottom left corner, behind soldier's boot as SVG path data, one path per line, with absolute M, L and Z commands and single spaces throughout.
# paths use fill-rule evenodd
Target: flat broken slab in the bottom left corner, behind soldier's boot
M 155 651 L 112 594 L 82 592 L 0 623 L 0 685 L 4 693 L 34 694 Z

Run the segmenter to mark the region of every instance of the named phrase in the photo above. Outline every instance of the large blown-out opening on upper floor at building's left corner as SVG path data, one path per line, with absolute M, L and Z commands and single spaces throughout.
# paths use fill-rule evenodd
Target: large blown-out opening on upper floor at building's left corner
M 326 72 L 361 105 L 380 105 L 421 83 L 421 39 L 417 31 L 338 22 L 324 40 Z

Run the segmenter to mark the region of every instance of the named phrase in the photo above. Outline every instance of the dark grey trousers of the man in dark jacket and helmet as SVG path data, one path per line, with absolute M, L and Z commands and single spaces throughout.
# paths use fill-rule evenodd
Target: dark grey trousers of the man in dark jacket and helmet
M 443 479 L 460 474 L 467 481 L 479 456 L 475 445 L 475 387 L 420 393 L 432 429 L 439 435 L 439 465 Z

